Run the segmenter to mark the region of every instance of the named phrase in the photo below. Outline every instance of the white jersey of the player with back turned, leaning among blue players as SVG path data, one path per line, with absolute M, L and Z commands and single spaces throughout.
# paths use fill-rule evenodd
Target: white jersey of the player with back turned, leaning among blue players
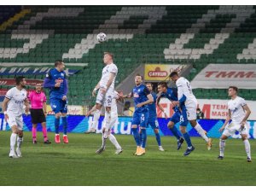
M 196 102 L 195 96 L 193 95 L 191 85 L 189 81 L 183 77 L 180 77 L 176 81 L 177 86 L 177 99 L 180 100 L 183 95 L 186 96 L 185 105 L 191 101 Z

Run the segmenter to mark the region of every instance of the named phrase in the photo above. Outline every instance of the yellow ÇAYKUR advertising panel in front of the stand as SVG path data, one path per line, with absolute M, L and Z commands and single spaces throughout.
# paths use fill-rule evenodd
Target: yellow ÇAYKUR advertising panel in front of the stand
M 144 79 L 146 81 L 164 81 L 173 71 L 181 72 L 186 65 L 146 64 Z

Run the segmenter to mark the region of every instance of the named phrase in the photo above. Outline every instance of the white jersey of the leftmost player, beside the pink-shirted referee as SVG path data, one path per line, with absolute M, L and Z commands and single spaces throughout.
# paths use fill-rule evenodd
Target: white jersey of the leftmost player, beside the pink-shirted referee
M 23 105 L 26 99 L 26 90 L 18 90 L 16 87 L 13 87 L 7 91 L 5 97 L 9 99 L 7 104 L 7 113 L 20 116 L 23 113 Z

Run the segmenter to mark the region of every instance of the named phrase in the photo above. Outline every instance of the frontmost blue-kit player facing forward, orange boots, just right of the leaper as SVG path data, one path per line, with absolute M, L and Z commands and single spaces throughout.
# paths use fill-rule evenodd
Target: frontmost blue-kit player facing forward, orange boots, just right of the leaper
M 131 131 L 137 143 L 136 155 L 141 156 L 146 153 L 145 147 L 147 142 L 146 126 L 148 125 L 148 104 L 154 102 L 153 96 L 150 94 L 148 88 L 143 84 L 143 77 L 137 74 L 135 77 L 135 87 L 131 93 L 123 96 L 124 98 L 133 97 L 135 103 L 135 111 L 133 113 L 131 122 Z M 138 132 L 138 125 L 142 131 L 142 140 Z

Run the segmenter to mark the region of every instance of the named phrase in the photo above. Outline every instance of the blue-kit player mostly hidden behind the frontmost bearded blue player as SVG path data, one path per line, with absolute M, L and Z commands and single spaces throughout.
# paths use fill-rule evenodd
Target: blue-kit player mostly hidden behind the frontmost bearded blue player
M 150 125 L 152 129 L 154 129 L 154 135 L 155 135 L 156 142 L 158 143 L 158 149 L 160 151 L 165 151 L 165 149 L 161 146 L 161 139 L 160 139 L 160 134 L 159 134 L 159 124 L 158 124 L 158 120 L 157 120 L 157 117 L 156 117 L 155 102 L 156 102 L 156 97 L 157 96 L 153 91 L 153 84 L 147 83 L 146 86 L 147 86 L 149 92 L 151 93 L 151 95 L 153 96 L 153 99 L 154 99 L 153 103 L 148 104 L 148 110 L 149 110 L 148 125 Z M 142 139 L 142 131 L 140 131 L 140 136 L 141 136 L 141 139 Z

